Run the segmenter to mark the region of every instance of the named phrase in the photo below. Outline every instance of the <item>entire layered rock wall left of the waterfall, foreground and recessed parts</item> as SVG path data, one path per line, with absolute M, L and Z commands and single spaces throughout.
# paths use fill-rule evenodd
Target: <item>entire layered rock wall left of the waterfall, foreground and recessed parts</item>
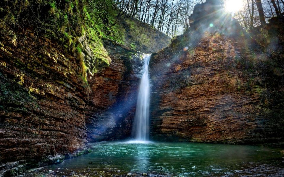
M 17 38 L 3 34 L 0 40 L 1 162 L 85 152 L 87 132 L 95 141 L 130 135 L 135 104 L 111 123 L 104 112 L 136 97 L 140 55 L 110 43 L 106 49 L 112 62 L 88 77 L 87 92 L 78 82 L 78 61 L 64 47 L 50 37 L 38 38 L 33 30 L 22 31 Z

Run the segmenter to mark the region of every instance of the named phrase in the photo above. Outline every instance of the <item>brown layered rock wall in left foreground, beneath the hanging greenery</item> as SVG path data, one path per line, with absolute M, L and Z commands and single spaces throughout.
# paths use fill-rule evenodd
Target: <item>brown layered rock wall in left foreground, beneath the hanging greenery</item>
M 75 59 L 48 38 L 38 45 L 31 31 L 22 35 L 25 41 L 1 39 L 1 161 L 86 150 Z

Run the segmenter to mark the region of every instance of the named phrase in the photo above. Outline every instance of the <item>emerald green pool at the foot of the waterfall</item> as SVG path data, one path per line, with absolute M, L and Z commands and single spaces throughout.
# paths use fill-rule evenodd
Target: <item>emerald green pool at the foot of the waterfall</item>
M 284 176 L 281 149 L 191 142 L 99 142 L 92 152 L 50 168 L 164 176 Z

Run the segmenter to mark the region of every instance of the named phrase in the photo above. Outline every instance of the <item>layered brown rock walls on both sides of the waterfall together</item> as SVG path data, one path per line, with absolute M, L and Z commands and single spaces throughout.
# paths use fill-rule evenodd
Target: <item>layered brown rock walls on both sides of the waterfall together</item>
M 283 146 L 283 105 L 265 97 L 271 88 L 252 83 L 247 72 L 251 62 L 260 65 L 269 56 L 251 47 L 231 16 L 217 13 L 198 21 L 198 8 L 220 10 L 209 3 L 193 11 L 194 28 L 151 55 L 150 140 Z M 143 53 L 104 40 L 109 65 L 88 73 L 86 86 L 78 79 L 77 58 L 52 36 L 5 28 L 0 38 L 3 173 L 89 153 L 89 142 L 132 137 Z M 282 45 L 283 37 L 278 39 Z M 93 71 L 95 57 L 85 42 L 83 37 L 84 62 Z M 275 73 L 282 83 L 283 69 Z M 276 90 L 282 93 L 283 85 Z

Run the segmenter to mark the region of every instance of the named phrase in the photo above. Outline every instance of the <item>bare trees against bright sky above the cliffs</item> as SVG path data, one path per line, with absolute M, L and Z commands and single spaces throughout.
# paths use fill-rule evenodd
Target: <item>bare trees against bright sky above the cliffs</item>
M 188 30 L 188 17 L 196 4 L 205 0 L 117 0 L 120 16 L 135 17 L 161 32 L 170 36 L 181 34 Z M 283 16 L 283 0 L 224 0 L 227 5 L 239 6 L 237 11 L 231 11 L 246 30 L 268 22 L 272 17 Z M 230 9 L 231 8 L 229 6 Z M 230 11 L 230 10 L 229 10 Z

